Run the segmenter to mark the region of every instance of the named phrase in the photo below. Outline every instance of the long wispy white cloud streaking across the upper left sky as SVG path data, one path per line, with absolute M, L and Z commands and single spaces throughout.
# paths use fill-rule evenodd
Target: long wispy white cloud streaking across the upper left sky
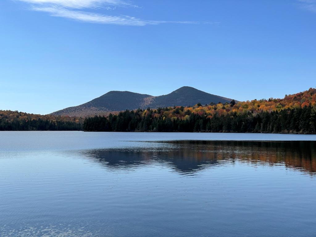
M 199 24 L 197 21 L 151 21 L 127 15 L 105 15 L 90 12 L 96 9 L 116 9 L 117 7 L 138 7 L 124 0 L 18 0 L 30 4 L 34 11 L 46 12 L 51 16 L 68 18 L 89 23 L 145 26 L 161 23 Z M 212 24 L 212 22 L 204 22 Z M 216 24 L 217 22 L 214 22 Z

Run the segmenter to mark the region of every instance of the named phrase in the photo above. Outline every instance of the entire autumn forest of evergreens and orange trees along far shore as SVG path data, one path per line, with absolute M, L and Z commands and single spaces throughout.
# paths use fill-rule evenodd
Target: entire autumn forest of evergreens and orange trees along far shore
M 262 99 L 126 110 L 77 118 L 0 111 L 0 131 L 166 131 L 316 134 L 316 88 Z

